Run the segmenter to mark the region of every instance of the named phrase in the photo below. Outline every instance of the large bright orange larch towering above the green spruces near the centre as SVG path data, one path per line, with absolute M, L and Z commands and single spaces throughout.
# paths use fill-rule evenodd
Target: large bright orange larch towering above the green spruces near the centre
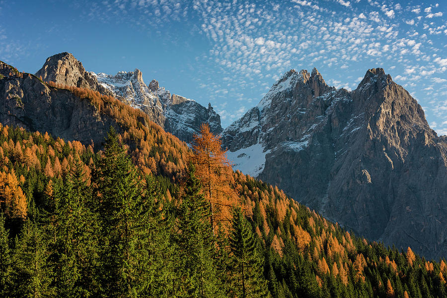
M 210 202 L 213 233 L 218 222 L 231 219 L 231 209 L 239 205 L 235 190 L 234 173 L 230 162 L 222 150 L 219 135 L 214 135 L 206 123 L 202 123 L 198 134 L 194 135 L 190 161 L 196 167 L 203 191 Z

